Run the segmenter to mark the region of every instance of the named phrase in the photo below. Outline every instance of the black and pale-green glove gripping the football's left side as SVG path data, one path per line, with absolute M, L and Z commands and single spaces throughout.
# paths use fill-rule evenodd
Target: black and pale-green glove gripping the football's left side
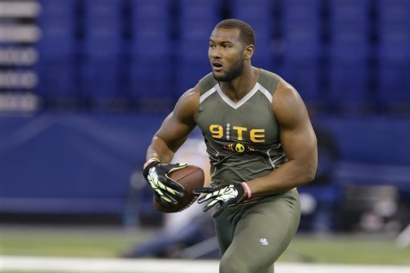
M 184 188 L 181 184 L 169 177 L 174 171 L 183 169 L 187 163 L 162 164 L 152 161 L 145 168 L 142 174 L 147 180 L 155 194 L 155 199 L 163 206 L 176 205 L 175 197 L 182 198 Z

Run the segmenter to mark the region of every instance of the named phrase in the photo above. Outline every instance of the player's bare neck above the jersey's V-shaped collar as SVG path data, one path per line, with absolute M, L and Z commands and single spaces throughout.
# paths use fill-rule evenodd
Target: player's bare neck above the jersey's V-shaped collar
M 246 96 L 258 81 L 260 70 L 249 66 L 245 67 L 242 75 L 232 81 L 221 81 L 219 86 L 222 92 L 232 101 L 238 102 Z

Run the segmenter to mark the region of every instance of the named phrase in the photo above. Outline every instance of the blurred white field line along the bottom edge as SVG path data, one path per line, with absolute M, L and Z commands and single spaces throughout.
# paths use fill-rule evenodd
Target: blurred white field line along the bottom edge
M 0 256 L 0 271 L 217 273 L 216 260 L 46 258 Z M 410 266 L 277 263 L 277 273 L 409 273 Z

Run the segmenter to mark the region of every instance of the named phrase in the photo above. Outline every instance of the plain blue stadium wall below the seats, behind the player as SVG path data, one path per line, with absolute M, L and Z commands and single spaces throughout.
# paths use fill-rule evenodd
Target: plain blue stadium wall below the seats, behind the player
M 124 213 L 131 175 L 141 170 L 146 149 L 163 117 L 3 117 L 2 212 Z M 390 184 L 410 194 L 407 119 L 319 118 L 314 123 L 318 130 L 325 128 L 341 151 L 333 166 L 333 184 L 343 186 L 346 180 Z M 192 137 L 201 135 L 194 131 Z M 341 162 L 359 164 L 359 170 Z M 388 167 L 403 171 L 389 171 Z M 151 194 L 149 204 L 150 200 Z M 151 206 L 146 209 L 146 213 L 153 212 Z

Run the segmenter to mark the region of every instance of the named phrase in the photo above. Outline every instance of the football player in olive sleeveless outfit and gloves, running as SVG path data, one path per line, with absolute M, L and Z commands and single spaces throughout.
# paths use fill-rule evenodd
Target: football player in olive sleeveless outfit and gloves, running
M 147 151 L 144 176 L 163 205 L 183 187 L 165 175 L 174 153 L 198 125 L 211 162 L 211 186 L 197 189 L 213 213 L 219 272 L 273 272 L 296 234 L 297 186 L 317 167 L 315 132 L 298 92 L 280 76 L 251 65 L 255 34 L 237 19 L 210 36 L 212 73 L 183 94 Z M 158 193 L 159 191 L 159 193 Z

